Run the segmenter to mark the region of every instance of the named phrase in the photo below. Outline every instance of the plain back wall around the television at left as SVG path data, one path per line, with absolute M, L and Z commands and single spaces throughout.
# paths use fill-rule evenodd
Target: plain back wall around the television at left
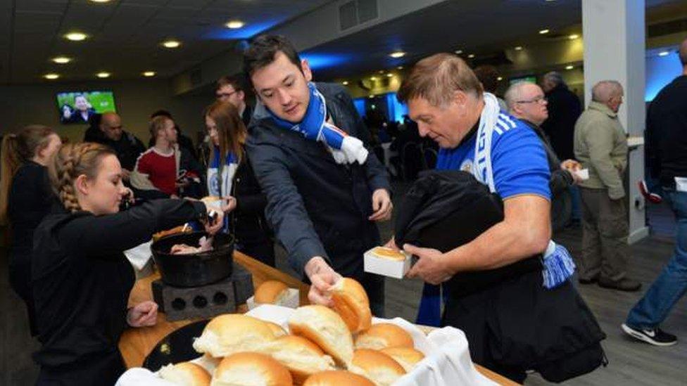
M 13 131 L 26 124 L 46 124 L 70 141 L 81 141 L 84 125 L 60 124 L 56 94 L 61 91 L 112 90 L 124 129 L 148 143 L 149 117 L 155 110 L 172 113 L 184 134 L 196 140 L 203 130 L 203 108 L 213 95 L 172 96 L 170 83 L 163 79 L 125 82 L 44 83 L 0 86 L 0 132 Z

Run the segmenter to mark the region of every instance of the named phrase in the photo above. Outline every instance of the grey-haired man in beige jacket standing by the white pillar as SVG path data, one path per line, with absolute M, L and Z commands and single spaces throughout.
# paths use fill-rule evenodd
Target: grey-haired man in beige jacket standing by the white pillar
M 579 281 L 636 291 L 641 283 L 626 277 L 629 224 L 622 176 L 627 140 L 618 120 L 622 98 L 618 82 L 598 82 L 591 103 L 575 124 L 575 157 L 589 169 L 589 179 L 579 183 L 583 226 Z

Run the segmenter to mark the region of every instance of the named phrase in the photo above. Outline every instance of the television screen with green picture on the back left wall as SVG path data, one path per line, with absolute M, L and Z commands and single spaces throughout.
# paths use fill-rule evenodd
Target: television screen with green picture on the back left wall
M 115 111 L 112 91 L 78 91 L 57 94 L 61 123 L 87 124 L 95 113 Z

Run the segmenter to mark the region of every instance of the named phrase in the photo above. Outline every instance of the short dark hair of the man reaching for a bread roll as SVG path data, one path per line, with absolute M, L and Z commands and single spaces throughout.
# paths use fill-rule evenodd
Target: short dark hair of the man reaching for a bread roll
M 244 72 L 251 77 L 256 70 L 274 62 L 277 52 L 280 51 L 291 63 L 301 68 L 301 57 L 298 56 L 291 41 L 282 35 L 263 34 L 253 39 L 251 46 L 244 51 Z

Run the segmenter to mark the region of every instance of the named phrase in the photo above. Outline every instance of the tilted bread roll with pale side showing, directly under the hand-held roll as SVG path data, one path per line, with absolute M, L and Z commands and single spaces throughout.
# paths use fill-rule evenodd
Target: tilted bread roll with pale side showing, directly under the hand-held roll
M 289 329 L 315 342 L 339 364 L 348 366 L 353 359 L 353 336 L 341 316 L 327 307 L 298 307 L 289 319 Z

